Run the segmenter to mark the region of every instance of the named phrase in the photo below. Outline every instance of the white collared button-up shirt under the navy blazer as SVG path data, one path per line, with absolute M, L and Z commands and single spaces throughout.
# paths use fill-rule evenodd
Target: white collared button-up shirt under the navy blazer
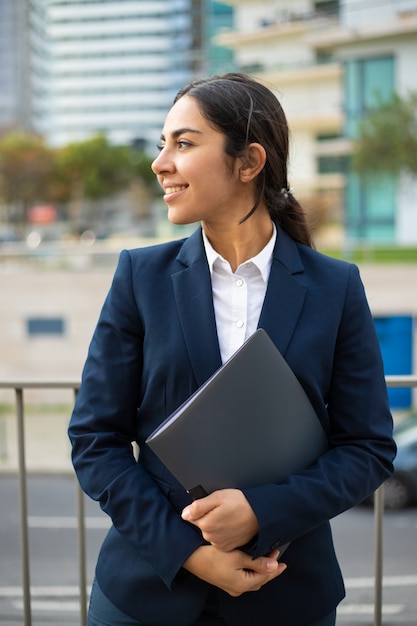
M 214 313 L 222 362 L 257 329 L 271 271 L 272 253 L 277 231 L 266 246 L 232 272 L 226 261 L 209 242 L 204 230 L 203 241 L 210 268 Z

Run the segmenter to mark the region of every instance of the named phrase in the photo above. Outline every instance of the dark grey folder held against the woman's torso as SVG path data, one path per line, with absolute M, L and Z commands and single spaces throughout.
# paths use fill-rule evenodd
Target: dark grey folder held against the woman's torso
M 147 443 L 194 498 L 278 483 L 328 445 L 301 384 L 262 329 Z

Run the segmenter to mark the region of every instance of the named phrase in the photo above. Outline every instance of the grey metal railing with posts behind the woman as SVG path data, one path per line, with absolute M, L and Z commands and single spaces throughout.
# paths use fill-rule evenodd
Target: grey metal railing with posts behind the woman
M 417 375 L 387 376 L 388 387 L 417 387 Z M 27 506 L 27 470 L 25 446 L 25 405 L 24 390 L 27 389 L 72 389 L 74 399 L 78 393 L 79 382 L 72 381 L 10 381 L 1 382 L 0 389 L 14 390 L 16 400 L 18 475 L 20 501 L 20 544 L 22 567 L 22 591 L 24 626 L 32 626 L 30 593 L 30 557 Z M 375 492 L 374 498 L 374 622 L 373 626 L 382 625 L 382 589 L 383 589 L 383 517 L 384 486 Z M 77 544 L 78 577 L 80 594 L 80 626 L 87 621 L 87 575 L 86 575 L 86 539 L 84 494 L 77 481 Z

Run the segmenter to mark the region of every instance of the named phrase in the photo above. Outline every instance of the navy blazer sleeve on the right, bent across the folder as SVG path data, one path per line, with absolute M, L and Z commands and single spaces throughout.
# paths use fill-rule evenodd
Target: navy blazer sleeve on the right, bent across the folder
M 393 471 L 396 447 L 379 343 L 357 267 L 349 274 L 335 348 L 331 340 L 321 348 L 334 350 L 330 391 L 322 398 L 329 451 L 281 484 L 244 491 L 260 525 L 256 556 L 360 503 Z

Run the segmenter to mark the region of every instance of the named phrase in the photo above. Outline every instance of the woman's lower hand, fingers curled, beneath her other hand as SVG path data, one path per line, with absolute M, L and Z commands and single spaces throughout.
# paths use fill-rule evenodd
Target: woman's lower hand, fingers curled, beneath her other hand
M 275 550 L 267 557 L 252 559 L 241 550 L 222 552 L 207 545 L 197 548 L 183 567 L 201 580 L 238 597 L 248 591 L 259 591 L 285 571 L 287 566 L 278 563 L 278 555 L 278 550 Z

